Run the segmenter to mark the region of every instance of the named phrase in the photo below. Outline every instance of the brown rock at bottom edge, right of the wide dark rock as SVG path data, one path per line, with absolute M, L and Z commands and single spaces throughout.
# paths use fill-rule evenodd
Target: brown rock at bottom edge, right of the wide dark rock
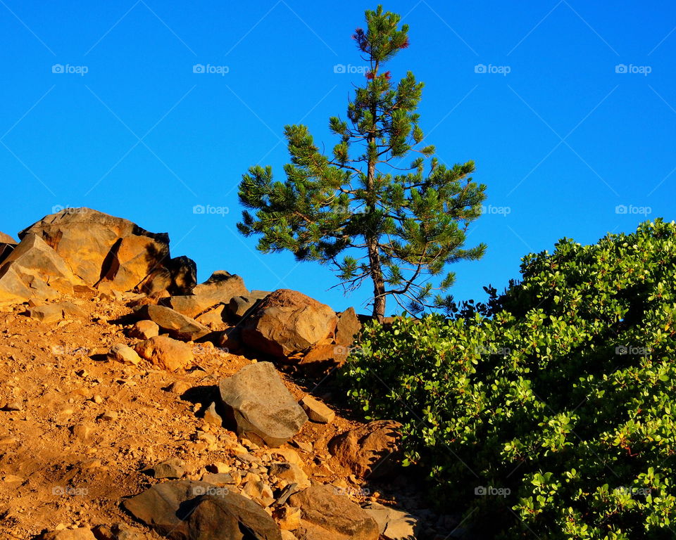
M 373 518 L 334 487 L 314 484 L 289 497 L 301 509 L 299 538 L 377 540 L 380 529 Z

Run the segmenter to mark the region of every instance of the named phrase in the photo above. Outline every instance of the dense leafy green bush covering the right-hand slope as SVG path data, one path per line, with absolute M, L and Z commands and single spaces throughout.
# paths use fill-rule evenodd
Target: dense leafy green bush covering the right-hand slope
M 490 538 L 676 538 L 676 224 L 521 272 L 489 307 L 365 328 L 349 394 Z

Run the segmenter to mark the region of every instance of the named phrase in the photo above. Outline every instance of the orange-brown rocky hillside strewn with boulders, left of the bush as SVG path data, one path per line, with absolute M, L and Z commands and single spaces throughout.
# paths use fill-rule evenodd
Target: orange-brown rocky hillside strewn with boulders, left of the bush
M 361 321 L 68 209 L 0 234 L 0 537 L 444 539 L 394 422 L 342 409 Z

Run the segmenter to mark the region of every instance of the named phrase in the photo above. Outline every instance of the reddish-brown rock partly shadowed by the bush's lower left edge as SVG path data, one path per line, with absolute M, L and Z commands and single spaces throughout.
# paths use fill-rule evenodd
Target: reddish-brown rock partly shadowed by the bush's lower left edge
M 384 477 L 397 463 L 400 428 L 393 420 L 376 420 L 333 437 L 329 451 L 357 476 Z

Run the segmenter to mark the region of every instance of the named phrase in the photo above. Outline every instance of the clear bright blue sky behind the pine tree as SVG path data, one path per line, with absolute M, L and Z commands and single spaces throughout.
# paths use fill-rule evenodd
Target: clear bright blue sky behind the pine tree
M 92 207 L 168 231 L 201 279 L 225 269 L 249 288 L 365 311 L 368 291 L 327 290 L 328 269 L 257 253 L 235 224 L 242 173 L 261 163 L 281 174 L 284 124 L 308 124 L 331 148 L 327 119 L 363 82 L 334 66 L 362 65 L 350 36 L 375 5 L 0 0 L 0 230 L 15 234 L 54 206 Z M 646 216 L 674 219 L 671 2 L 384 7 L 411 26 L 390 69 L 425 82 L 428 141 L 444 162 L 475 160 L 488 186 L 470 241 L 489 249 L 456 264 L 458 299 L 503 288 L 520 257 L 563 236 L 592 243 Z

